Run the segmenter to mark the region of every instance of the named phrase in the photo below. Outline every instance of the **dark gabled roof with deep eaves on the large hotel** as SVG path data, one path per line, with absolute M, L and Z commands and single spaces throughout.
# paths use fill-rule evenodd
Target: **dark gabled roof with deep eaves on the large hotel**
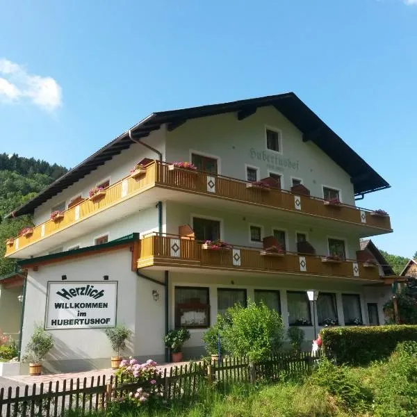
M 375 190 L 389 188 L 387 183 L 368 163 L 352 150 L 332 129 L 323 122 L 316 113 L 311 111 L 293 92 L 281 95 L 271 95 L 266 97 L 258 97 L 255 99 L 246 99 L 239 101 L 231 101 L 229 103 L 210 104 L 208 106 L 199 106 L 191 108 L 183 108 L 180 110 L 162 111 L 152 113 L 141 122 L 130 129 L 135 139 L 145 138 L 154 130 L 158 130 L 167 124 L 167 130 L 173 130 L 180 126 L 186 120 L 197 117 L 206 117 L 212 115 L 220 115 L 223 113 L 236 112 L 238 120 L 249 117 L 256 111 L 256 108 L 274 106 L 277 111 L 282 113 L 297 129 L 302 131 L 303 140 L 307 142 L 311 140 L 325 154 L 338 164 L 347 174 L 350 175 L 354 186 L 354 193 L 360 195 L 362 193 L 370 193 Z M 96 170 L 100 165 L 113 156 L 120 154 L 124 149 L 128 149 L 132 144 L 129 138 L 129 131 L 122 133 L 112 142 L 99 149 L 95 154 L 89 156 L 85 161 L 72 168 L 63 177 L 57 179 L 50 186 L 42 190 L 33 199 L 26 204 L 17 208 L 10 215 L 22 215 L 33 213 L 33 210 L 40 204 L 47 201 L 54 195 L 60 193 L 63 189 L 71 186 L 79 181 L 85 175 Z M 152 145 L 152 144 L 151 144 Z

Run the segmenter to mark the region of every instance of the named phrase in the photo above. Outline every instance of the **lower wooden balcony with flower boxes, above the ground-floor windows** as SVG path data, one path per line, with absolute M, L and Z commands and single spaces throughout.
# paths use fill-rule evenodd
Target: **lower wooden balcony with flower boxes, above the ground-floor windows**
M 259 248 L 235 245 L 228 250 L 206 250 L 197 240 L 153 234 L 140 240 L 138 268 L 198 268 L 381 282 L 377 267 L 366 268 L 354 259 L 327 263 L 323 262 L 323 256 L 293 252 L 280 256 L 262 253 Z

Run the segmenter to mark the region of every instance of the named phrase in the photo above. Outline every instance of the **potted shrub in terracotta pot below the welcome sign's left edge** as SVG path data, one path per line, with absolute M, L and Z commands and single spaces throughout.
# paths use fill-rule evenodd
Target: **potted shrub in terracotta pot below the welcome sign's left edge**
M 40 375 L 42 361 L 49 350 L 54 347 L 52 335 L 47 333 L 40 325 L 35 325 L 31 340 L 26 345 L 26 351 L 22 361 L 29 363 L 29 375 Z

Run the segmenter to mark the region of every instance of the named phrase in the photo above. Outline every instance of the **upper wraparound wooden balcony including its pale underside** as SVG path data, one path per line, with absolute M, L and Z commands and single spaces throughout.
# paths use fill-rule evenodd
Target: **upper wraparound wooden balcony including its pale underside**
M 286 190 L 277 188 L 248 188 L 247 181 L 223 177 L 217 174 L 208 174 L 206 172 L 190 172 L 175 168 L 170 170 L 170 164 L 159 161 L 149 163 L 140 176 L 133 178 L 130 175 L 124 179 L 112 184 L 106 188 L 106 193 L 99 199 L 92 201 L 85 199 L 79 204 L 74 204 L 68 208 L 63 218 L 57 221 L 48 220 L 33 228 L 31 236 L 17 236 L 10 242 L 6 243 L 6 257 L 29 257 L 39 252 L 56 247 L 67 240 L 83 236 L 90 229 L 116 221 L 120 215 L 129 215 L 137 211 L 138 206 L 149 200 L 149 206 L 159 200 L 171 199 L 188 204 L 202 204 L 204 206 L 217 206 L 220 209 L 241 209 L 241 206 L 247 207 L 252 215 L 256 212 L 254 207 L 259 209 L 259 215 L 277 215 L 276 211 L 284 216 L 286 220 L 291 221 L 303 216 L 304 222 L 333 221 L 339 224 L 347 224 L 347 227 L 357 227 L 361 237 L 373 236 L 375 234 L 391 232 L 390 218 L 373 215 L 372 211 L 341 204 L 340 206 L 327 206 L 323 199 L 310 197 L 308 195 L 297 195 Z M 179 195 L 181 192 L 182 195 Z M 139 196 L 139 199 L 135 197 Z M 126 202 L 131 200 L 128 207 Z M 229 204 L 225 208 L 225 204 Z M 238 205 L 234 203 L 239 203 Z M 242 204 L 243 203 L 243 204 Z M 104 211 L 111 213 L 110 209 L 119 207 L 115 215 L 102 215 Z M 84 220 L 93 216 L 101 215 L 100 224 L 94 222 L 83 223 L 83 227 L 74 228 Z M 88 226 L 90 225 L 90 226 Z M 323 226 L 323 225 L 322 225 Z M 90 227 L 90 229 L 89 229 Z M 72 230 L 65 237 L 65 230 Z M 60 234 L 60 240 L 52 236 Z M 48 242 L 47 242 L 48 240 Z M 44 242 L 44 245 L 38 245 L 39 249 L 25 250 L 37 243 Z M 42 247 L 41 247 L 42 246 Z

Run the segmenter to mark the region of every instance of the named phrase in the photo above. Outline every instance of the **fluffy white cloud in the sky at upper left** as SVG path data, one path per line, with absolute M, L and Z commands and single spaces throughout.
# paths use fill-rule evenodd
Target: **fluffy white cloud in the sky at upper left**
M 22 65 L 0 59 L 0 100 L 30 101 L 48 111 L 62 105 L 60 85 L 50 76 L 29 74 Z

